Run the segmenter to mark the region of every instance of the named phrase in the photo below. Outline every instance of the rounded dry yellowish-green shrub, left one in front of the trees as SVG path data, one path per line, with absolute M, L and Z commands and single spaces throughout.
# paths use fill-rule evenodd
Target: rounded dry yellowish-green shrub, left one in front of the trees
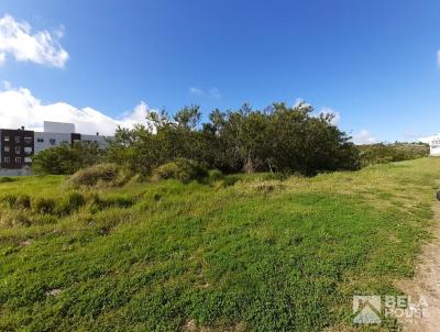
M 67 179 L 69 187 L 117 187 L 129 179 L 129 175 L 116 164 L 98 164 L 75 173 Z

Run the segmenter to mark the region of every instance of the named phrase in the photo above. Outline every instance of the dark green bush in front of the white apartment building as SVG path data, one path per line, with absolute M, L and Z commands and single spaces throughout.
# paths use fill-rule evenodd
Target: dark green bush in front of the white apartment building
M 74 174 L 98 163 L 101 154 L 96 142 L 63 143 L 34 155 L 32 169 L 38 174 Z

